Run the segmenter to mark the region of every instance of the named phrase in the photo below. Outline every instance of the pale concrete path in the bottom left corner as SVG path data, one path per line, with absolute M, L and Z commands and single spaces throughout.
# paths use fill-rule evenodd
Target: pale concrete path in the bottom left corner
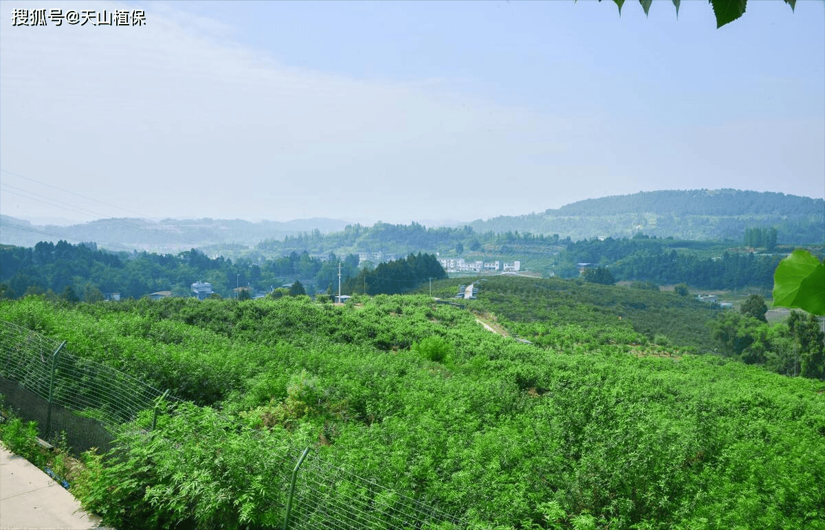
M 92 530 L 99 523 L 50 476 L 0 446 L 0 530 Z

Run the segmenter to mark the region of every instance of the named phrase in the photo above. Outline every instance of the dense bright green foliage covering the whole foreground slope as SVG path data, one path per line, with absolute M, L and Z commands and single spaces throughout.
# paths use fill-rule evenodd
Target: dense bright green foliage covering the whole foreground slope
M 569 285 L 572 310 L 559 302 L 555 319 L 549 305 L 533 313 L 534 324 L 548 318 L 546 348 L 491 334 L 426 296 L 345 306 L 28 297 L 0 302 L 0 318 L 234 419 L 192 409 L 180 415 L 187 422 L 172 416 L 151 436 L 122 438 L 114 467 L 98 461 L 79 494 L 112 521 L 271 526 L 274 455 L 311 445 L 488 528 L 825 528 L 821 381 L 673 356 L 625 324 L 629 312 L 617 318 L 630 297 L 567 321 L 583 297 L 622 290 L 684 320 L 678 305 L 698 306 L 683 296 L 508 280 L 532 300 Z M 474 307 L 516 300 L 491 285 Z

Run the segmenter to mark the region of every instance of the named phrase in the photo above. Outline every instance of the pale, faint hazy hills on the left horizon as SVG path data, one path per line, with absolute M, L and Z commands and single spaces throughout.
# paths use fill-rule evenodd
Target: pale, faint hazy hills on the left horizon
M 306 219 L 288 222 L 246 220 L 162 220 L 105 219 L 82 225 L 32 225 L 8 215 L 0 215 L 0 244 L 34 247 L 40 241 L 64 239 L 77 244 L 94 241 L 111 250 L 147 250 L 177 253 L 190 248 L 214 245 L 251 247 L 264 239 L 283 239 L 318 230 L 322 234 L 343 230 L 347 221 Z

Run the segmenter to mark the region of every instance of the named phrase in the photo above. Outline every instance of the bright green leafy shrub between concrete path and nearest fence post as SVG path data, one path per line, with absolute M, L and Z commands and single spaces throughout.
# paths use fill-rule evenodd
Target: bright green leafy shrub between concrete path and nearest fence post
M 121 530 L 273 528 L 282 522 L 289 461 L 276 438 L 181 405 L 144 432 L 134 425 L 106 458 L 87 452 L 75 494 Z M 294 464 L 293 464 L 294 465 Z

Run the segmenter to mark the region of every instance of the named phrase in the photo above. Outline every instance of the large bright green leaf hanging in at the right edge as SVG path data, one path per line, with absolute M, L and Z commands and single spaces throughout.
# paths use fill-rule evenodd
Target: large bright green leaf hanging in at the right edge
M 825 315 L 825 265 L 807 250 L 794 250 L 776 267 L 773 297 L 774 307 Z

